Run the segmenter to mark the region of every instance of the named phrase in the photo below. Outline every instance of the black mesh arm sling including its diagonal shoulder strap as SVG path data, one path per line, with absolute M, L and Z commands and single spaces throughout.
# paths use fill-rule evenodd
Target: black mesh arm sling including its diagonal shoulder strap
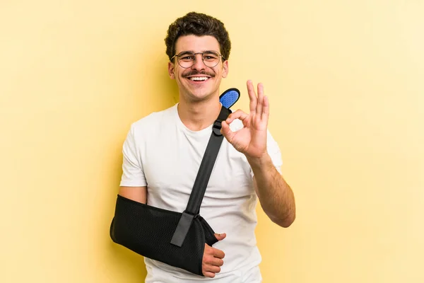
M 221 122 L 229 114 L 230 110 L 222 106 L 218 119 L 213 123 L 211 137 L 184 212 L 152 207 L 118 195 L 110 225 L 110 237 L 114 243 L 146 258 L 204 276 L 201 266 L 205 243 L 212 246 L 218 240 L 199 211 L 223 141 Z

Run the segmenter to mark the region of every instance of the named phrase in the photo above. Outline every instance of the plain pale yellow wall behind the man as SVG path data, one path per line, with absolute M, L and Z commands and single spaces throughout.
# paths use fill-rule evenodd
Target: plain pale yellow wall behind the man
M 167 26 L 210 13 L 264 83 L 297 219 L 264 282 L 424 282 L 424 3 L 0 1 L 0 282 L 142 282 L 110 220 L 131 122 L 176 101 Z M 230 233 L 230 231 L 228 231 Z

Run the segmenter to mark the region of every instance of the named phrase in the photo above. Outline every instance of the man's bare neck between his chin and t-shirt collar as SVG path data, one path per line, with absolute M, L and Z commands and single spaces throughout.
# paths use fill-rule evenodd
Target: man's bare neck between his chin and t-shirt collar
M 218 97 L 209 100 L 179 100 L 178 115 L 182 123 L 192 131 L 200 131 L 213 124 L 219 115 L 221 104 Z

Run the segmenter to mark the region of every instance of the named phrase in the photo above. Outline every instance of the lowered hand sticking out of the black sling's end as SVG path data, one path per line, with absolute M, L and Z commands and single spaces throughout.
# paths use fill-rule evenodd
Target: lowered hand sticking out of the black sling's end
M 215 237 L 218 241 L 223 240 L 227 235 L 215 234 Z M 205 243 L 204 257 L 201 262 L 201 272 L 203 272 L 205 277 L 215 277 L 216 273 L 220 272 L 220 267 L 223 266 L 223 258 L 225 253 L 218 248 L 212 248 Z

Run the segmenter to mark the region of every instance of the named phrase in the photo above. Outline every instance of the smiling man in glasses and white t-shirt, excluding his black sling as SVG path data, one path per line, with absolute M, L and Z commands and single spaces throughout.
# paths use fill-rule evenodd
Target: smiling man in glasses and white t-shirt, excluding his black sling
M 179 103 L 131 125 L 124 142 L 119 195 L 183 212 L 221 104 L 220 81 L 228 75 L 230 38 L 223 23 L 188 13 L 165 39 L 168 72 Z M 222 123 L 225 139 L 201 205 L 201 216 L 218 243 L 205 244 L 202 272 L 219 283 L 261 282 L 256 246 L 257 199 L 276 224 L 295 219 L 295 200 L 281 176 L 281 154 L 267 130 L 269 101 L 259 83 L 247 81 L 250 112 L 233 112 Z M 199 282 L 205 277 L 145 258 L 146 282 Z

